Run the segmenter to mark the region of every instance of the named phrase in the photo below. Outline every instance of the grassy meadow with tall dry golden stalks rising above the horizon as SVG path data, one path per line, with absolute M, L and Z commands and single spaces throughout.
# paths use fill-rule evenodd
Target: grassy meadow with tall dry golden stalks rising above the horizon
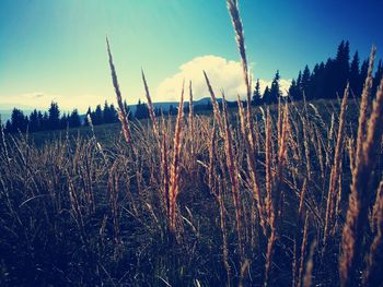
M 0 135 L 2 286 L 381 286 L 383 81 L 371 94 Z M 219 105 L 217 97 L 223 98 Z M 184 101 L 190 109 L 184 113 Z

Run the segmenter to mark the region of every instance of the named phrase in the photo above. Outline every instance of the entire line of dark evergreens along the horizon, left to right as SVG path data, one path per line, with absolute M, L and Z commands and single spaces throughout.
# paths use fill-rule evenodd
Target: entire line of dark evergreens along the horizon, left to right
M 300 71 L 297 79 L 293 79 L 287 93 L 282 93 L 279 81 L 279 71 L 276 72 L 271 85 L 266 86 L 264 91 L 260 91 L 259 80 L 255 84 L 253 94 L 253 105 L 270 105 L 278 103 L 279 98 L 289 100 L 301 100 L 305 97 L 307 100 L 318 98 L 336 98 L 341 97 L 343 92 L 349 82 L 351 93 L 356 96 L 360 96 L 364 79 L 368 73 L 369 62 L 364 59 L 360 60 L 358 51 L 353 53 L 352 60 L 350 60 L 350 47 L 348 41 L 341 41 L 338 46 L 335 58 L 328 58 L 326 62 L 316 63 L 311 71 L 309 65 L 305 65 L 303 72 Z M 375 95 L 379 80 L 382 77 L 383 67 L 382 60 L 379 61 L 375 69 L 372 85 L 372 95 Z M 285 95 L 287 94 L 288 97 Z M 141 100 L 138 101 L 135 112 L 130 112 L 129 106 L 124 103 L 125 109 L 129 119 L 146 119 L 149 118 L 148 106 Z M 236 103 L 229 103 L 229 107 L 236 107 Z M 198 105 L 194 108 L 195 111 L 212 110 L 211 103 L 208 101 L 205 105 Z M 176 115 L 176 107 L 173 105 L 166 111 L 162 111 L 160 108 L 154 110 L 156 116 Z M 185 112 L 188 112 L 188 106 L 185 107 Z M 117 109 L 115 106 L 108 105 L 105 101 L 104 107 L 96 106 L 94 110 L 88 109 L 86 115 L 90 115 L 92 123 L 94 125 L 103 123 L 118 122 Z M 86 117 L 81 118 L 77 109 L 70 113 L 61 111 L 56 103 L 51 103 L 48 111 L 34 110 L 30 116 L 25 116 L 22 110 L 14 108 L 11 119 L 5 123 L 5 132 L 37 132 L 48 130 L 59 130 L 67 128 L 78 128 L 89 124 Z

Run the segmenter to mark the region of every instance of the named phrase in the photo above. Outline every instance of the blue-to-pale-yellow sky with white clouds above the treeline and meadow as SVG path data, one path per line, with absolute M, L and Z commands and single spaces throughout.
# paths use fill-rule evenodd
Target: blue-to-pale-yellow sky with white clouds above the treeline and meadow
M 252 76 L 282 89 L 305 64 L 334 57 L 343 39 L 382 58 L 381 0 L 240 0 Z M 115 103 L 108 36 L 124 99 L 177 100 L 182 82 L 207 96 L 202 70 L 229 98 L 244 84 L 224 0 L 0 0 L 0 109 L 45 109 L 55 100 L 84 112 Z

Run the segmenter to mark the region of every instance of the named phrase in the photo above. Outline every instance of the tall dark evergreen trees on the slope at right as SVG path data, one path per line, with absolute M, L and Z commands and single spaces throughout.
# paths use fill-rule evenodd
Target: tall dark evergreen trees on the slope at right
M 297 79 L 293 79 L 289 91 L 287 91 L 290 100 L 301 100 L 305 97 L 307 100 L 318 98 L 336 98 L 341 97 L 343 92 L 349 82 L 351 93 L 360 96 L 364 79 L 369 68 L 369 60 L 360 60 L 359 52 L 356 51 L 350 60 L 349 41 L 343 40 L 337 49 L 335 58 L 328 58 L 326 62 L 316 63 L 311 71 L 305 65 L 303 72 L 300 71 Z M 373 86 L 371 95 L 375 95 L 379 81 L 383 74 L 382 60 L 379 61 L 378 68 L 373 76 Z M 262 93 L 259 80 L 255 85 L 253 94 L 253 104 L 269 105 L 278 103 L 282 96 L 279 85 L 279 71 L 277 71 L 271 85 L 267 86 Z

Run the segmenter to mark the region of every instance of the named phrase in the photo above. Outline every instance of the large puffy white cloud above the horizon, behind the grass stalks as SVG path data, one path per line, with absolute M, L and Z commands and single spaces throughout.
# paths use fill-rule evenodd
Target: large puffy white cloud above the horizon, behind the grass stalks
M 227 98 L 231 100 L 235 99 L 237 94 L 242 97 L 246 94 L 241 62 L 210 55 L 196 57 L 192 61 L 182 64 L 176 74 L 166 77 L 160 83 L 154 100 L 178 100 L 183 80 L 186 83 L 192 80 L 195 99 L 209 96 L 202 74 L 204 70 L 208 74 L 217 96 L 220 96 L 221 89 L 224 91 Z M 283 93 L 289 88 L 290 83 L 290 80 L 280 80 L 280 86 Z M 271 81 L 259 80 L 259 84 L 260 89 L 264 91 L 266 85 L 270 86 Z M 255 83 L 253 83 L 253 88 L 254 85 Z

